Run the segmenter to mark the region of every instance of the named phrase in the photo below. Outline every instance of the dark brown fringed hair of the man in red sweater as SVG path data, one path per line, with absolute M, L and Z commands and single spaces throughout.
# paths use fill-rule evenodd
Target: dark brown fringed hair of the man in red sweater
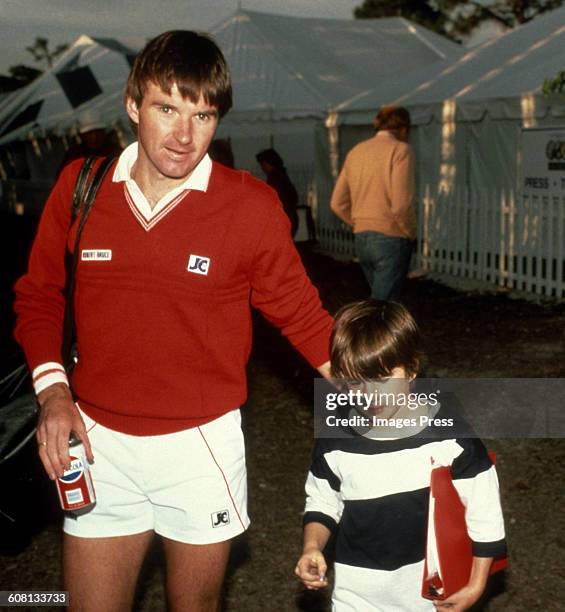
M 170 94 L 177 85 L 183 98 L 197 103 L 202 95 L 223 117 L 232 105 L 231 79 L 226 60 L 207 35 L 172 30 L 150 40 L 135 58 L 125 98 L 141 106 L 149 82 Z

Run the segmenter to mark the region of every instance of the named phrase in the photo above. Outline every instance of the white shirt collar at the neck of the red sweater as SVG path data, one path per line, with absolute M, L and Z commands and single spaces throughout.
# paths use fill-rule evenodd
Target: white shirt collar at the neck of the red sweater
M 212 173 L 212 160 L 206 153 L 186 181 L 178 187 L 171 189 L 157 202 L 154 208 L 151 208 L 147 198 L 131 176 L 131 169 L 137 160 L 137 151 L 137 142 L 133 142 L 122 151 L 118 158 L 112 181 L 114 183 L 125 182 L 127 191 L 131 196 L 131 201 L 147 221 L 151 221 L 151 219 L 156 217 L 166 206 L 184 192 L 192 189 L 207 191 L 210 174 Z

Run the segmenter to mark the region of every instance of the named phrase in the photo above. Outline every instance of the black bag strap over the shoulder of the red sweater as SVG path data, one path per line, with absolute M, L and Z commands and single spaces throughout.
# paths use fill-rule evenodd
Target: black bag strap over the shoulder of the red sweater
M 115 158 L 105 157 L 99 164 L 98 168 L 92 176 L 92 168 L 98 158 L 88 157 L 77 177 L 73 199 L 71 203 L 71 224 L 80 213 L 77 233 L 75 237 L 74 249 L 72 253 L 68 253 L 65 258 L 65 268 L 67 272 L 66 288 L 65 288 L 65 315 L 63 323 L 63 341 L 61 345 L 61 356 L 63 365 L 70 368 L 74 365 L 74 343 L 76 338 L 75 328 L 75 308 L 74 308 L 74 293 L 75 293 L 75 276 L 79 258 L 79 245 L 82 230 L 86 223 L 86 219 L 90 214 L 92 205 L 96 198 L 96 194 L 102 181 L 106 177 L 108 170 L 114 163 Z M 90 180 L 89 180 L 90 179 Z

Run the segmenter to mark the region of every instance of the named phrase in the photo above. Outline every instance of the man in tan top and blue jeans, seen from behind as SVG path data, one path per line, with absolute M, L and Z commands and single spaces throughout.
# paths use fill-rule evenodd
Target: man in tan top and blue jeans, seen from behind
M 348 153 L 330 206 L 353 228 L 371 297 L 398 300 L 416 238 L 414 152 L 407 143 L 410 114 L 385 106 L 374 126 L 375 136 Z

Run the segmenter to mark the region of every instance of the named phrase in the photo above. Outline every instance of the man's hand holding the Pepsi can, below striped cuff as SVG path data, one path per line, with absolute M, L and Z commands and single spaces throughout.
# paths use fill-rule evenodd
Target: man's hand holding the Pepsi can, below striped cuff
M 92 462 L 94 456 L 86 434 L 84 421 L 76 407 L 71 391 L 64 383 L 55 383 L 44 389 L 38 396 L 39 421 L 37 443 L 39 457 L 51 480 L 63 475 L 71 466 L 69 437 L 74 433 L 84 444 L 86 458 Z

